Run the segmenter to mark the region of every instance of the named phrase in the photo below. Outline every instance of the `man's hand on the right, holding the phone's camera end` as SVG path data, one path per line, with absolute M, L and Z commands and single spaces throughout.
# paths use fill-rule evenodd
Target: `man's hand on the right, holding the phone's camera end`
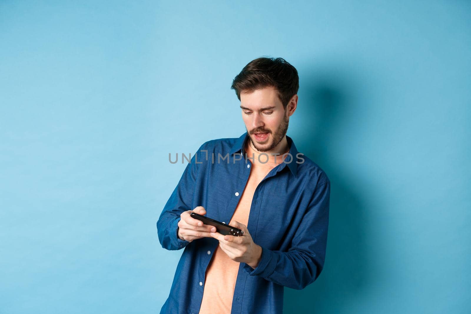
M 246 225 L 237 221 L 230 225 L 243 230 L 244 235 L 236 237 L 234 235 L 222 235 L 219 232 L 211 232 L 211 237 L 219 240 L 219 247 L 230 259 L 235 262 L 246 263 L 255 269 L 259 265 L 262 248 L 253 242 Z

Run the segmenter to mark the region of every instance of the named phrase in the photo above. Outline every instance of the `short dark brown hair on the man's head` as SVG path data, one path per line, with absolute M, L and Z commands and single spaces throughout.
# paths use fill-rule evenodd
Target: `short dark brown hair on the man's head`
M 278 90 L 278 98 L 286 109 L 291 97 L 298 93 L 298 71 L 283 58 L 260 57 L 244 66 L 232 81 L 231 89 L 240 100 L 241 92 L 251 93 L 269 86 Z

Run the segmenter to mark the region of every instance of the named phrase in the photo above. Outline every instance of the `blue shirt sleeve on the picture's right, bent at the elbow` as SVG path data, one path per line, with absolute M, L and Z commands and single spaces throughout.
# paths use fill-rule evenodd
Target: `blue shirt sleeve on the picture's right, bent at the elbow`
M 324 267 L 329 224 L 330 181 L 318 184 L 287 252 L 262 247 L 259 265 L 243 270 L 252 276 L 301 290 L 314 282 Z

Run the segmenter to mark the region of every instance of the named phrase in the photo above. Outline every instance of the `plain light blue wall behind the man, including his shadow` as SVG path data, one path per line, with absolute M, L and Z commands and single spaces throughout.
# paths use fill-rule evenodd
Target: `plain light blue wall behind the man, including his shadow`
M 1 1 L 0 313 L 156 313 L 182 251 L 169 153 L 244 133 L 259 56 L 332 182 L 325 269 L 285 313 L 471 313 L 469 1 Z

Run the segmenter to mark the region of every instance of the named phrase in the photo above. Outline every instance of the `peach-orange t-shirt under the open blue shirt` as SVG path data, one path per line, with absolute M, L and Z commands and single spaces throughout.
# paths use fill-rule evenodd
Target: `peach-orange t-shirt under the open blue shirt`
M 282 156 L 280 155 L 276 156 L 276 163 L 274 156 L 270 156 L 267 163 L 260 163 L 258 161 L 259 153 L 255 152 L 248 142 L 245 146 L 245 151 L 247 152 L 248 157 L 252 158 L 253 153 L 255 158 L 254 162 L 252 162 L 251 159 L 248 159 L 252 163 L 249 179 L 239 203 L 235 208 L 234 215 L 232 216 L 229 225 L 232 225 L 234 221 L 247 225 L 255 189 L 271 169 L 283 162 Z M 267 156 L 260 156 L 260 160 L 266 161 Z M 214 251 L 211 261 L 206 269 L 203 300 L 201 302 L 199 314 L 231 313 L 232 298 L 234 296 L 235 281 L 239 271 L 239 264 L 240 262 L 235 262 L 230 259 L 219 245 L 217 246 L 217 249 Z

